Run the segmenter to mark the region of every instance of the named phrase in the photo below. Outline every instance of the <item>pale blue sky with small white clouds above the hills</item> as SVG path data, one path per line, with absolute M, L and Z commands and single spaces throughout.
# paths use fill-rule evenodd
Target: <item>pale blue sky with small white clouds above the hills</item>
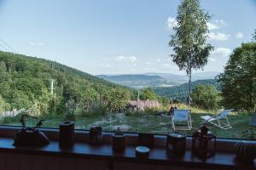
M 179 71 L 168 46 L 180 0 L 0 0 L 0 50 L 55 60 L 92 75 Z M 256 0 L 201 0 L 214 46 L 203 71 L 224 71 L 251 41 Z M 195 72 L 201 72 L 195 71 Z

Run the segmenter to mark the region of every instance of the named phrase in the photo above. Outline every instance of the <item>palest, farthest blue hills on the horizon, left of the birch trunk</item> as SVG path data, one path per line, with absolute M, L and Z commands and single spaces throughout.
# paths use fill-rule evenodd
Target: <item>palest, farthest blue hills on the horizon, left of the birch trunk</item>
M 160 76 L 148 76 L 148 75 L 98 75 L 104 80 L 114 82 L 123 86 L 131 88 L 148 88 L 148 87 L 171 87 L 174 83 L 166 81 Z

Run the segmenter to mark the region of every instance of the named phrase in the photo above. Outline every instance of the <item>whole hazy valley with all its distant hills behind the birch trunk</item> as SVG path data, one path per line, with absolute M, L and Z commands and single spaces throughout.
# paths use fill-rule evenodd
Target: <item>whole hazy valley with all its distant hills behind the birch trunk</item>
M 197 85 L 212 85 L 220 90 L 216 81 L 219 72 L 195 73 L 192 76 L 192 88 Z M 129 88 L 152 88 L 154 93 L 168 99 L 186 101 L 188 96 L 188 77 L 168 73 L 145 73 L 141 75 L 98 75 L 109 82 L 114 82 Z

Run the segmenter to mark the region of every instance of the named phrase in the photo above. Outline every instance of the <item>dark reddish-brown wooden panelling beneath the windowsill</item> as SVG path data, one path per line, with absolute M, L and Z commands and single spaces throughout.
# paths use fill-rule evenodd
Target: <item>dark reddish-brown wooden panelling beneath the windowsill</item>
M 108 170 L 108 161 L 32 156 L 0 153 L 0 170 Z M 200 168 L 172 167 L 140 163 L 113 162 L 113 170 L 195 170 Z M 201 168 L 203 170 L 203 168 Z

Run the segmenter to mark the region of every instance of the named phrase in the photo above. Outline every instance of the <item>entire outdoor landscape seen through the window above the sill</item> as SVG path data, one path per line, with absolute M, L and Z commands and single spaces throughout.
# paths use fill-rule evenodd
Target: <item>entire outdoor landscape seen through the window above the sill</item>
M 253 0 L 0 0 L 0 124 L 256 139 L 255 16 Z

